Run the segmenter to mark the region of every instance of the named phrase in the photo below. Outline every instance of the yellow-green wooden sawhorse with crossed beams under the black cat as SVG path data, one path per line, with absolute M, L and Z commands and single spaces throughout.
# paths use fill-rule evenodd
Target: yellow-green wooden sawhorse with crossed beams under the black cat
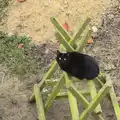
M 51 22 L 55 26 L 57 33 L 60 35 L 59 41 L 61 43 L 60 50 L 61 51 L 78 51 L 81 52 L 85 47 L 87 40 L 91 36 L 91 29 L 88 23 L 90 19 L 87 18 L 85 22 L 80 25 L 78 31 L 73 35 L 73 38 L 63 29 L 63 27 L 58 23 L 58 21 L 52 17 Z M 90 92 L 78 91 L 76 86 L 74 85 L 74 80 L 71 80 L 71 77 L 68 76 L 65 72 L 63 72 L 60 76 L 59 80 L 49 80 L 52 78 L 53 74 L 58 68 L 58 64 L 56 61 L 53 61 L 51 67 L 48 72 L 45 73 L 43 79 L 39 84 L 34 85 L 34 93 L 30 98 L 30 102 L 36 101 L 37 110 L 38 110 L 38 119 L 46 120 L 45 112 L 50 108 L 53 101 L 58 97 L 67 97 L 70 104 L 70 110 L 72 114 L 72 120 L 84 120 L 86 119 L 88 113 L 92 113 L 92 115 L 99 120 L 104 120 L 102 116 L 102 109 L 100 106 L 101 100 L 109 94 L 112 100 L 112 104 L 114 107 L 114 111 L 116 114 L 117 120 L 120 120 L 120 108 L 116 99 L 116 95 L 112 86 L 112 82 L 110 77 L 103 77 L 101 74 L 96 79 L 101 84 L 101 89 L 97 91 L 94 80 L 88 81 L 88 88 Z M 106 81 L 102 81 L 104 80 Z M 79 80 L 80 81 L 80 80 Z M 48 95 L 45 104 L 43 104 L 42 99 L 42 91 L 46 84 L 52 85 L 53 90 Z M 66 86 L 67 92 L 61 93 L 60 90 L 63 86 Z M 43 92 L 44 93 L 44 92 Z M 92 98 L 91 102 L 85 98 L 85 95 L 90 95 Z M 84 111 L 79 115 L 78 104 L 82 103 L 85 108 Z

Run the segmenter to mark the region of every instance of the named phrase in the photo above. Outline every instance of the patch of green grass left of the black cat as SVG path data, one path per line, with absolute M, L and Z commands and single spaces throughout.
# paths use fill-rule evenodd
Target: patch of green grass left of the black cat
M 22 48 L 18 48 L 19 44 Z M 0 64 L 7 66 L 11 73 L 25 75 L 27 73 L 37 74 L 40 69 L 40 58 L 35 59 L 31 45 L 31 39 L 26 36 L 8 36 L 0 33 Z M 34 48 L 36 49 L 36 48 Z

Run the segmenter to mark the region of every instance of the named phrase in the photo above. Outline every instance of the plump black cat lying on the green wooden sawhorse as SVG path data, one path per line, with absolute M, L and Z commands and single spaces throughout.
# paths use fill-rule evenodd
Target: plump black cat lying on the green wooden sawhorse
M 69 75 L 79 79 L 92 80 L 99 74 L 99 66 L 89 55 L 78 52 L 61 53 L 57 50 L 57 63 Z

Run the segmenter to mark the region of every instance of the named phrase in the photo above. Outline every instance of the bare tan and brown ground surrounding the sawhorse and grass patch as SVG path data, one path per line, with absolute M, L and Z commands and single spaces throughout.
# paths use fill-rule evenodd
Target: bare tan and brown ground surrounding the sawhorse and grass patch
M 101 69 L 111 75 L 116 94 L 120 95 L 120 7 L 119 4 L 111 3 L 115 4 L 115 1 L 26 0 L 23 3 L 11 1 L 6 16 L 1 21 L 0 29 L 9 34 L 32 37 L 33 42 L 39 46 L 37 52 L 31 54 L 43 58 L 41 68 L 46 69 L 58 48 L 50 17 L 56 16 L 61 24 L 66 21 L 71 29 L 75 29 L 86 15 L 91 17 L 92 24 L 98 25 L 99 29 L 98 33 L 93 35 L 94 46 L 89 48 L 91 51 L 89 50 L 88 54 L 94 56 L 99 61 Z M 29 104 L 28 99 L 34 83 L 40 81 L 43 73 L 44 71 L 41 71 L 38 75 L 32 74 L 28 78 L 21 78 L 9 74 L 6 67 L 0 66 L 0 120 L 37 119 L 36 106 Z M 116 120 L 109 101 L 103 101 L 102 107 L 105 120 Z M 69 119 L 71 116 L 66 101 L 55 102 L 47 114 L 47 120 Z

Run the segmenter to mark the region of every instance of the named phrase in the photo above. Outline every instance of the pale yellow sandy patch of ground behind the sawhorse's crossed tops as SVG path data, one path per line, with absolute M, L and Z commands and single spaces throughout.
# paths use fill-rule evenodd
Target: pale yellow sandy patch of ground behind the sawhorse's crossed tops
M 99 23 L 100 16 L 110 0 L 26 0 L 23 3 L 12 1 L 7 21 L 6 31 L 19 35 L 28 35 L 35 42 L 51 39 L 55 41 L 50 17 L 55 16 L 60 23 L 65 21 L 72 27 L 76 26 L 86 16 Z

